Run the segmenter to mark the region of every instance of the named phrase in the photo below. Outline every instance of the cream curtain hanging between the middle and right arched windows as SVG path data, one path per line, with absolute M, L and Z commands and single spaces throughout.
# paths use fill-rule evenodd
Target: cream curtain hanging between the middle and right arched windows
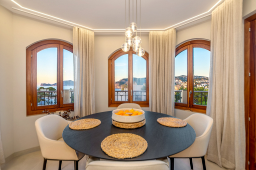
M 150 31 L 149 39 L 151 111 L 174 115 L 176 30 Z

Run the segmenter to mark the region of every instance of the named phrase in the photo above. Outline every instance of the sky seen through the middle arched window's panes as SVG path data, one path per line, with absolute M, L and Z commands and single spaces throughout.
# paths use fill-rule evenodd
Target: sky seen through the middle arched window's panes
M 114 80 L 119 81 L 122 78 L 128 78 L 128 54 L 124 54 L 119 56 L 114 61 Z M 146 60 L 133 54 L 133 76 L 136 78 L 143 78 L 146 77 L 147 71 L 147 62 Z

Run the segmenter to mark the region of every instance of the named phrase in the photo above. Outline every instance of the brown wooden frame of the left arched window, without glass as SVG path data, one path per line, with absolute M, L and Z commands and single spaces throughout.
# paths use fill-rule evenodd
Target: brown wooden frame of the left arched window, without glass
M 57 104 L 37 106 L 37 52 L 50 47 L 57 47 Z M 60 91 L 63 91 L 63 49 L 73 53 L 73 45 L 61 40 L 43 40 L 26 49 L 27 115 L 43 114 L 44 109 L 50 112 L 74 109 L 74 103 L 64 104 L 60 97 Z

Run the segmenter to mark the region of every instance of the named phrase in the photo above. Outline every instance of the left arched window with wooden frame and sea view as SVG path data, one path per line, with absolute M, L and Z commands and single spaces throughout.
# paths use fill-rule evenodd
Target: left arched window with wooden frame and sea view
M 73 45 L 43 40 L 26 53 L 27 115 L 74 108 Z

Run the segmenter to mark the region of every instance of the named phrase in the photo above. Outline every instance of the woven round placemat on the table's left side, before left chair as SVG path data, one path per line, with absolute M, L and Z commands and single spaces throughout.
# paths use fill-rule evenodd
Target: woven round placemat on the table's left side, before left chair
M 101 123 L 99 119 L 84 118 L 71 122 L 68 126 L 74 130 L 89 129 L 98 126 Z

